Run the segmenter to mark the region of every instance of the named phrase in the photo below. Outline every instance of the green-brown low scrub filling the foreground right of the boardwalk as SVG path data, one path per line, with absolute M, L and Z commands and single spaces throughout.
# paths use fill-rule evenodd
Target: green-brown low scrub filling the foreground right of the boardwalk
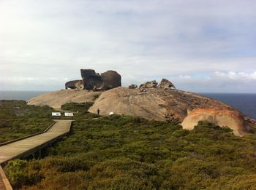
M 132 116 L 77 119 L 44 159 L 5 167 L 15 189 L 253 189 L 255 135 Z

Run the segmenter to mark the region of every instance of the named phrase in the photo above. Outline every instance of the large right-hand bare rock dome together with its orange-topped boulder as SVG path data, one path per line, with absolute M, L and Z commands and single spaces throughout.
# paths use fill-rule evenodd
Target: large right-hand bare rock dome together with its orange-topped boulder
M 245 121 L 246 117 L 241 112 L 219 100 L 181 90 L 152 88 L 140 92 L 118 87 L 103 92 L 89 111 L 97 113 L 98 108 L 102 115 L 114 112 L 160 121 L 178 121 L 189 130 L 200 120 L 208 120 L 232 128 L 235 135 L 244 135 L 246 127 L 252 124 Z

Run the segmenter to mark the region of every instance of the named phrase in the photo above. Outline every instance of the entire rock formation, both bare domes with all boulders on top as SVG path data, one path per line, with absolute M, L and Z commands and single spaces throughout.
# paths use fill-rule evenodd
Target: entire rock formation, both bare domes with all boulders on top
M 140 88 L 118 87 L 121 85 L 121 76 L 115 71 L 96 74 L 94 70 L 81 70 L 83 85 L 88 90 L 111 90 L 105 92 L 89 92 L 87 90 L 60 90 L 31 98 L 28 104 L 60 108 L 64 103 L 94 101 L 89 108 L 92 113 L 109 115 L 125 114 L 140 116 L 146 119 L 159 121 L 179 122 L 184 129 L 192 130 L 197 122 L 207 120 L 220 127 L 227 126 L 233 129 L 235 135 L 244 135 L 256 127 L 255 119 L 244 116 L 235 108 L 219 100 L 182 90 L 168 90 L 174 85 L 162 79 L 157 82 L 146 82 Z M 80 87 L 80 81 L 66 84 L 67 88 Z M 166 90 L 167 89 L 167 90 Z M 100 95 L 95 100 L 95 96 Z

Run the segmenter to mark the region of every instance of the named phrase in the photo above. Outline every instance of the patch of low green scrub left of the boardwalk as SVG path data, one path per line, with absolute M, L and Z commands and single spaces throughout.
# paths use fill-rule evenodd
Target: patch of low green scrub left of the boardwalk
M 0 100 L 0 143 L 42 132 L 53 121 L 52 108 L 29 106 L 22 100 Z

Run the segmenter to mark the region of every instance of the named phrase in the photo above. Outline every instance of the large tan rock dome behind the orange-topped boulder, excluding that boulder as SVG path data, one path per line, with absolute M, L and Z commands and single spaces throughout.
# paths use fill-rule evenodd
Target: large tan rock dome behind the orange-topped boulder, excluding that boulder
M 180 122 L 184 120 L 189 111 L 195 108 L 233 110 L 225 103 L 192 92 L 159 88 L 147 88 L 146 92 L 140 92 L 139 89 L 126 87 L 102 92 L 102 95 L 97 98 L 89 111 L 94 112 L 94 109 L 96 111 L 98 107 L 102 108 L 101 113 L 103 115 L 108 115 L 109 112 L 114 111 L 116 114 L 128 114 L 165 121 L 166 114 L 170 114 Z

